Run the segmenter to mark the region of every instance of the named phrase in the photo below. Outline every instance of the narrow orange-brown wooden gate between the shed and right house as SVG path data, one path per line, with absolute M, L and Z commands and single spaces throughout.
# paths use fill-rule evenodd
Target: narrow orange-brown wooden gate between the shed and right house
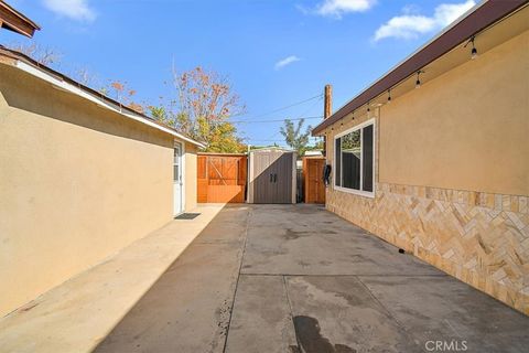
M 325 203 L 325 184 L 323 182 L 323 168 L 325 158 L 303 158 L 303 179 L 305 203 Z

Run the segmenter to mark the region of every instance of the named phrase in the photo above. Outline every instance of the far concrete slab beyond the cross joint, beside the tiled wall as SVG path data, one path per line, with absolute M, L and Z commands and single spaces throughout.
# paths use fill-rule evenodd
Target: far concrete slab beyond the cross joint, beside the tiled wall
M 310 205 L 256 212 L 242 274 L 439 275 L 444 272 Z

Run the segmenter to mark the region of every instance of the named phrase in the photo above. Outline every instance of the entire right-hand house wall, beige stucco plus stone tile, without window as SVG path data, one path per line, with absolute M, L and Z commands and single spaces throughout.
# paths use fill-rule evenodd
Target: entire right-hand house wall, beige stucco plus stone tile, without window
M 343 119 L 375 118 L 375 197 L 334 190 L 326 207 L 529 313 L 529 32 L 420 89 Z M 333 165 L 334 167 L 334 165 Z

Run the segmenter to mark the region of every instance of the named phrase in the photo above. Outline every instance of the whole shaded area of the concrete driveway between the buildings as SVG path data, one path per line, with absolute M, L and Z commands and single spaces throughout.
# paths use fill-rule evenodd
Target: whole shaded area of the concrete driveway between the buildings
M 527 352 L 528 332 L 321 206 L 230 205 L 96 352 Z

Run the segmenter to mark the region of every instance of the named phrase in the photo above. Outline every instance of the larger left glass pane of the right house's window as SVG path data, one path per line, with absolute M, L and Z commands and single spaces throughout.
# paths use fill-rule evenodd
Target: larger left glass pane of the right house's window
M 342 186 L 360 190 L 360 130 L 342 137 Z

